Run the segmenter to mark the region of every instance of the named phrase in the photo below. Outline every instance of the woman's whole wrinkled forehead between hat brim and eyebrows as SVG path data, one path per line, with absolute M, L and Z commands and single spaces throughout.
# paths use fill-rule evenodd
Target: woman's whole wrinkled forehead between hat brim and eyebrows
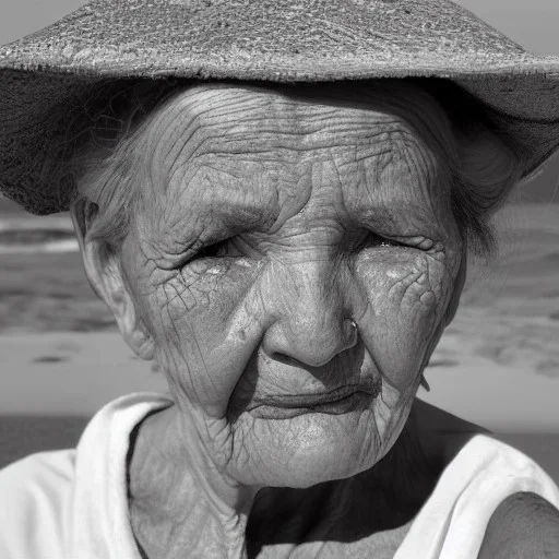
M 440 195 L 441 160 L 429 127 L 421 129 L 421 109 L 442 118 L 414 90 L 187 90 L 145 130 L 153 154 L 147 207 L 166 227 L 180 221 L 235 234 L 266 230 L 312 197 L 335 199 L 361 222 L 430 206 Z

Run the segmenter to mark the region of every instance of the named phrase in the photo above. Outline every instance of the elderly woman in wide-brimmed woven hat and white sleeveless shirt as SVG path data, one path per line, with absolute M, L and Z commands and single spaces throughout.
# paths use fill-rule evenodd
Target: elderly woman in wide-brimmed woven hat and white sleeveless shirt
M 0 56 L 3 191 L 169 384 L 0 473 L 2 558 L 559 554 L 550 478 L 416 400 L 557 61 L 444 0 L 97 1 Z

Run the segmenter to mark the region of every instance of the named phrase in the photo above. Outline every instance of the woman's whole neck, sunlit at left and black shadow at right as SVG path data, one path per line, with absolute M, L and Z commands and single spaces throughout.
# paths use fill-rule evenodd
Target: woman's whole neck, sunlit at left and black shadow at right
M 297 546 L 309 531 L 322 542 L 399 531 L 417 514 L 445 463 L 447 444 L 418 420 L 425 413 L 413 411 L 394 448 L 371 469 L 308 489 L 265 488 L 257 498 L 261 488 L 217 471 L 178 414 L 171 407 L 148 417 L 131 444 L 131 523 L 150 559 L 245 558 L 285 542 Z

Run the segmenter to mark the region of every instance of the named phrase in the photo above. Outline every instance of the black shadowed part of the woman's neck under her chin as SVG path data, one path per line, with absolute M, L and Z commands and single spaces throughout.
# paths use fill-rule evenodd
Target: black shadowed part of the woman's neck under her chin
M 444 467 L 443 448 L 431 439 L 427 456 L 421 436 L 413 413 L 392 450 L 372 468 L 307 489 L 262 489 L 247 526 L 249 557 L 301 544 L 314 557 L 310 542 L 326 546 L 328 557 L 350 556 L 349 549 L 362 557 L 362 545 L 368 557 L 388 557 L 386 548 L 400 545 Z

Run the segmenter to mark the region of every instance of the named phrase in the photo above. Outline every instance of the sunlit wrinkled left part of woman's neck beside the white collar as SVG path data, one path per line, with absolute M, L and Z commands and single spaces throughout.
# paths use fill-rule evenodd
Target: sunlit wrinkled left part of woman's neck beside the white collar
M 199 545 L 215 546 L 204 557 L 245 557 L 245 530 L 259 488 L 218 472 L 175 406 L 148 416 L 131 442 L 130 514 L 144 555 L 183 557 Z

